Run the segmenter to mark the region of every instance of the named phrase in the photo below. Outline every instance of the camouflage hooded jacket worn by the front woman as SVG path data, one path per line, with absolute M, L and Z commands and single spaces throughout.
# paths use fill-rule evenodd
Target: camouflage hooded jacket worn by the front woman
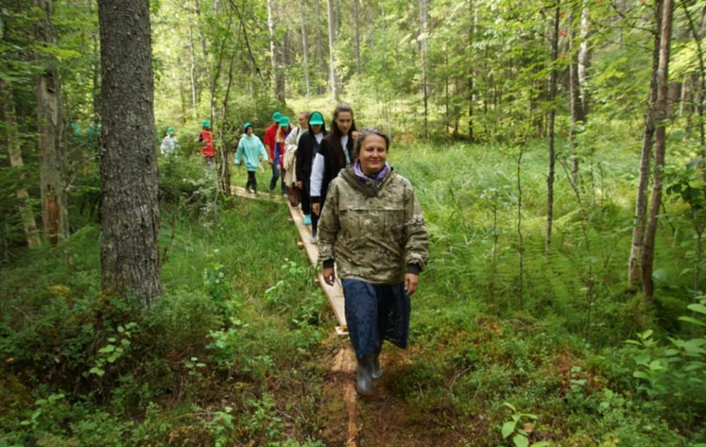
M 340 278 L 396 284 L 429 258 L 429 233 L 414 188 L 393 169 L 379 185 L 353 167 L 333 179 L 318 223 L 318 259 Z

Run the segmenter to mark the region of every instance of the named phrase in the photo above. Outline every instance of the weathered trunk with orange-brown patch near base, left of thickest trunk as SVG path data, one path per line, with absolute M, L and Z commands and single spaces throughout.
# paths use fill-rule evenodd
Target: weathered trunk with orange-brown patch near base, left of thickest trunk
M 56 44 L 52 23 L 52 0 L 32 0 L 42 17 L 35 24 L 35 37 L 40 45 Z M 66 167 L 61 150 L 61 92 L 56 58 L 37 52 L 42 73 L 37 76 L 37 127 L 39 132 L 42 190 L 42 227 L 44 237 L 52 245 L 68 237 L 68 194 Z

